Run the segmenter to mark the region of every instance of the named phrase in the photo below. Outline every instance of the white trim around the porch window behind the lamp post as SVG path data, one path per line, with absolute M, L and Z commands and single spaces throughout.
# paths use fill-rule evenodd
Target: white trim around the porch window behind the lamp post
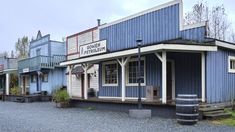
M 146 59 L 141 57 L 141 60 L 144 61 L 144 83 L 141 83 L 141 86 L 146 86 Z M 130 59 L 126 65 L 126 86 L 138 86 L 138 83 L 129 83 L 129 62 L 138 61 L 138 58 Z

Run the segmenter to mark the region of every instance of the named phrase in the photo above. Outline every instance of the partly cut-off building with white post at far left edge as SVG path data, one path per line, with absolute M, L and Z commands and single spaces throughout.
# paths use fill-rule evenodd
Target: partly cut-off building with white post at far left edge
M 10 88 L 14 87 L 11 84 L 12 77 L 17 77 L 17 58 L 9 57 L 7 53 L 0 54 L 0 95 L 5 92 L 10 94 Z M 17 83 L 17 82 L 15 82 Z M 12 85 L 12 86 L 11 86 Z

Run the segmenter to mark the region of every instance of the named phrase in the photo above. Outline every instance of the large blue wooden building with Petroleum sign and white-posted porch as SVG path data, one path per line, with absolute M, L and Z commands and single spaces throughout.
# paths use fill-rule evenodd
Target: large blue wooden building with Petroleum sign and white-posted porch
M 146 101 L 166 104 L 177 94 L 197 94 L 207 103 L 235 98 L 235 45 L 208 38 L 205 22 L 184 25 L 181 0 L 98 29 L 99 41 L 81 45 L 80 58 L 61 65 L 82 64 L 86 74 L 90 65 L 99 64 L 100 99 L 137 99 L 139 38 L 143 40 L 141 86 Z

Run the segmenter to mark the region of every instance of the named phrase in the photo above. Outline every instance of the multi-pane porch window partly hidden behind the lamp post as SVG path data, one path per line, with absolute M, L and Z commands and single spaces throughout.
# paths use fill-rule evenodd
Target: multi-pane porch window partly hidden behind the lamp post
M 132 59 L 128 63 L 127 67 L 127 86 L 137 86 L 138 85 L 138 59 Z M 140 61 L 140 75 L 141 84 L 145 85 L 145 59 L 141 58 Z

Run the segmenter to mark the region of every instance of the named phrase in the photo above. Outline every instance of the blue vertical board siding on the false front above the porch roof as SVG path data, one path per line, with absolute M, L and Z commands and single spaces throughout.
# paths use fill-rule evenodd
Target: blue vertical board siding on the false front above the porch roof
M 100 40 L 107 40 L 111 52 L 136 47 L 138 37 L 143 40 L 143 45 L 178 38 L 202 41 L 205 27 L 180 31 L 179 8 L 179 4 L 175 4 L 102 28 Z

